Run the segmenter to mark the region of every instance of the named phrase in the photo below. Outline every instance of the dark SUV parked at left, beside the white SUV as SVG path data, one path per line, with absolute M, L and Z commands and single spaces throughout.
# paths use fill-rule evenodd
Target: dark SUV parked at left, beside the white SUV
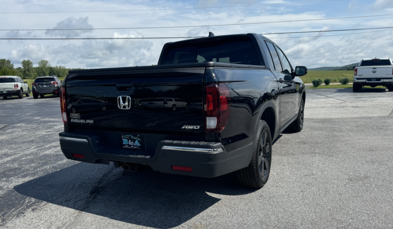
M 41 76 L 37 77 L 32 84 L 33 97 L 38 98 L 38 95 L 43 98 L 44 95 L 55 94 L 60 97 L 61 83 L 56 76 Z

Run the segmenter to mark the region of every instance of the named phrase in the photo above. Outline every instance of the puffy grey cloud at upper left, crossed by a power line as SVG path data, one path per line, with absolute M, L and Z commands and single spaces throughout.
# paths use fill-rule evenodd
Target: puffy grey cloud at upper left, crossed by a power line
M 93 26 L 89 24 L 88 17 L 79 19 L 69 17 L 57 23 L 57 25 L 51 29 L 93 29 Z M 82 34 L 91 32 L 92 30 L 46 30 L 45 34 L 50 36 L 72 38 L 79 37 Z

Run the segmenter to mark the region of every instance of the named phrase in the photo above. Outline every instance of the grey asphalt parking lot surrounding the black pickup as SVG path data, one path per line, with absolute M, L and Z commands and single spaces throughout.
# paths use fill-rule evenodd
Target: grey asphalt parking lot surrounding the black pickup
M 1 98 L 0 227 L 392 228 L 393 92 L 306 92 L 260 190 L 67 160 L 59 98 Z

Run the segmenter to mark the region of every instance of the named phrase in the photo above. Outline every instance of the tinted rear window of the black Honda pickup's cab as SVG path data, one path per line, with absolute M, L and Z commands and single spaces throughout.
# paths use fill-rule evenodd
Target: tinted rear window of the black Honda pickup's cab
M 219 38 L 217 41 L 185 42 L 168 46 L 171 49 L 164 64 L 201 63 L 206 61 L 220 63 L 261 65 L 249 37 L 237 39 Z

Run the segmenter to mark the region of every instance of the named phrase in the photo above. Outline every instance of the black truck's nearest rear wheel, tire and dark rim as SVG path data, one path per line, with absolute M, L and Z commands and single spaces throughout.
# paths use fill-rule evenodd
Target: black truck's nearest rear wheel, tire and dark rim
M 267 123 L 260 120 L 253 156 L 248 167 L 236 171 L 239 182 L 251 188 L 262 188 L 269 179 L 271 168 L 271 134 Z

